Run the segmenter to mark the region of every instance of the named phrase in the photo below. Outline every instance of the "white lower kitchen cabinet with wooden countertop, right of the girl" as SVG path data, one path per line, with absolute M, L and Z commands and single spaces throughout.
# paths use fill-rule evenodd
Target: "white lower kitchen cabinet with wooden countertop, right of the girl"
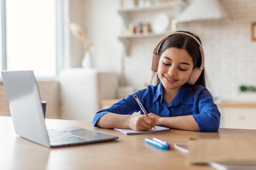
M 256 102 L 223 102 L 220 128 L 256 129 Z

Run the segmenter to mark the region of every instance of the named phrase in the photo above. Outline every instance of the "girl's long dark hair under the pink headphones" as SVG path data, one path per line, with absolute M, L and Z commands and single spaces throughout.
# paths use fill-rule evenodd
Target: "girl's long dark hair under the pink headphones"
M 200 38 L 197 35 L 195 35 L 193 33 L 190 33 L 188 31 L 179 31 L 179 32 L 189 33 L 189 34 L 193 35 L 195 38 L 197 38 L 198 41 L 201 43 L 201 40 L 200 40 Z M 201 52 L 199 50 L 199 44 L 192 37 L 190 37 L 188 35 L 185 35 L 185 34 L 173 34 L 173 35 L 170 35 L 159 46 L 159 51 L 158 51 L 159 56 L 162 55 L 164 50 L 166 50 L 166 49 L 168 49 L 170 47 L 175 47 L 175 48 L 178 48 L 178 49 L 186 50 L 189 53 L 189 55 L 192 57 L 194 68 L 196 66 L 197 67 L 201 66 L 202 56 L 201 56 Z M 157 76 L 157 72 L 154 72 L 153 75 L 152 75 L 150 84 L 156 85 L 156 84 L 159 84 L 159 83 L 160 83 L 160 79 Z M 195 82 L 195 85 L 198 85 L 198 84 L 206 87 L 205 71 L 204 71 L 204 69 L 203 69 L 201 75 L 199 76 L 198 80 Z

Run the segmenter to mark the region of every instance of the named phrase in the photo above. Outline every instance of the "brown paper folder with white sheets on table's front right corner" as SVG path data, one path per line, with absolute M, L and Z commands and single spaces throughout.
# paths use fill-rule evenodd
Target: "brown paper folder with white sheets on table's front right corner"
M 256 170 L 255 143 L 254 138 L 190 139 L 174 148 L 187 153 L 190 163 L 217 170 Z

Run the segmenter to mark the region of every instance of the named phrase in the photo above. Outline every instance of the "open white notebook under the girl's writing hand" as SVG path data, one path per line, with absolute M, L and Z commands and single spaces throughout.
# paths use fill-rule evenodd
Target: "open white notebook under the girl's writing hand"
M 135 131 L 131 129 L 121 129 L 121 128 L 114 128 L 118 132 L 124 133 L 126 135 L 138 135 L 138 134 L 148 134 L 148 133 L 161 133 L 161 132 L 170 132 L 170 128 L 166 128 L 164 126 L 155 126 L 155 129 L 152 128 L 148 131 Z

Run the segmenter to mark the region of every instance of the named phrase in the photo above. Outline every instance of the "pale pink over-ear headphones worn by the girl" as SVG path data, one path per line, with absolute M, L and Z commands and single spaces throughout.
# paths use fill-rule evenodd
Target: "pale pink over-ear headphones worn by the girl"
M 195 38 L 193 35 L 189 34 L 189 33 L 184 33 L 181 31 L 177 31 L 174 33 L 171 33 L 169 35 L 166 35 L 164 38 L 162 38 L 162 40 L 160 40 L 154 51 L 153 51 L 153 57 L 152 57 L 152 61 L 151 61 L 151 71 L 153 72 L 157 72 L 157 68 L 158 68 L 158 63 L 159 63 L 159 58 L 160 56 L 158 55 L 158 51 L 159 51 L 159 46 L 162 44 L 162 42 L 164 42 L 164 40 L 166 40 L 169 36 L 173 35 L 173 34 L 184 34 L 184 35 L 188 35 L 190 37 L 192 37 L 199 45 L 199 50 L 201 52 L 201 56 L 202 56 L 202 63 L 200 68 L 195 67 L 191 73 L 191 75 L 189 76 L 189 79 L 187 81 L 188 84 L 195 84 L 195 82 L 198 80 L 199 76 L 201 75 L 203 69 L 204 69 L 204 50 L 202 48 L 202 44 L 199 42 L 199 40 L 197 38 Z

